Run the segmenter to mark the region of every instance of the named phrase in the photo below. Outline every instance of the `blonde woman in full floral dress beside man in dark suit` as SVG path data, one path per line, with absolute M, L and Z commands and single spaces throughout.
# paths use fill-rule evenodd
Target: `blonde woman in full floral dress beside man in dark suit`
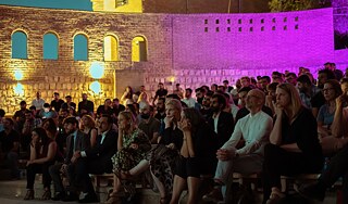
M 135 195 L 135 179 L 149 167 L 146 160 L 151 149 L 148 137 L 137 128 L 136 119 L 128 111 L 119 114 L 117 152 L 112 156 L 114 186 L 107 203 L 114 203 L 120 196 Z

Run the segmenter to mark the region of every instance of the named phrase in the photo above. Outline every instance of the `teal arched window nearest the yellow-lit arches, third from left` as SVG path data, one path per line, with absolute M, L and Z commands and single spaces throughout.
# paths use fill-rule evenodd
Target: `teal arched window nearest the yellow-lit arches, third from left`
M 88 61 L 88 41 L 83 34 L 74 38 L 74 61 Z

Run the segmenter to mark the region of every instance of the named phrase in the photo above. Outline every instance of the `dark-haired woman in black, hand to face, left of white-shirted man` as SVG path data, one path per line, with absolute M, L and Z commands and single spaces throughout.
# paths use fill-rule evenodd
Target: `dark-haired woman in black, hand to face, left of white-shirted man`
M 200 175 L 212 175 L 219 149 L 215 132 L 196 109 L 182 111 L 178 128 L 183 131 L 181 158 L 176 165 L 171 204 L 177 204 L 183 190 L 188 188 L 188 204 L 198 200 Z

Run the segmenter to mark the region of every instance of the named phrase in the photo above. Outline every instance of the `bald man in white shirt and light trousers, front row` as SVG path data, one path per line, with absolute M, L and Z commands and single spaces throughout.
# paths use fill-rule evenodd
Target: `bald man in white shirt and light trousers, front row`
M 203 196 L 204 201 L 217 202 L 223 199 L 233 171 L 250 175 L 262 170 L 263 146 L 269 142 L 273 127 L 273 119 L 261 111 L 264 100 L 261 90 L 248 92 L 246 107 L 250 113 L 237 122 L 229 140 L 217 150 L 219 163 L 214 176 L 217 187 Z M 240 139 L 245 140 L 245 145 L 237 150 Z

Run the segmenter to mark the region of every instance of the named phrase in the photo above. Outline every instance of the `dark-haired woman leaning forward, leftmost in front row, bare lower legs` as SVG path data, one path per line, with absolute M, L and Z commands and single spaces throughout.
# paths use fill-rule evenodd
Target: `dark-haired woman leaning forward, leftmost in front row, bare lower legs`
M 32 142 L 30 142 L 30 158 L 26 166 L 26 195 L 24 200 L 34 199 L 34 182 L 35 175 L 42 174 L 44 181 L 44 194 L 41 200 L 51 199 L 51 176 L 48 168 L 54 164 L 54 157 L 57 153 L 57 143 L 50 139 L 44 128 L 35 128 L 33 130 Z

